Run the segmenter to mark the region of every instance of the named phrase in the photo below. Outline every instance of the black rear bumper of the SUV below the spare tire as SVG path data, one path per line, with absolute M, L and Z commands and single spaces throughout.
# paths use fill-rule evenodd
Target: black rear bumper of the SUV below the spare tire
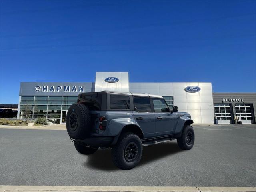
M 75 141 L 82 142 L 92 147 L 109 147 L 113 140 L 113 137 L 88 137 L 84 140 L 76 139 Z

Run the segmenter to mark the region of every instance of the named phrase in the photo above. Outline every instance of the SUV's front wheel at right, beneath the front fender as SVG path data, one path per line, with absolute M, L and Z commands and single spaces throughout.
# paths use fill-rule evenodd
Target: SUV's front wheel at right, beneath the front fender
M 180 138 L 177 138 L 178 146 L 184 150 L 190 150 L 194 146 L 195 134 L 193 127 L 185 125 Z

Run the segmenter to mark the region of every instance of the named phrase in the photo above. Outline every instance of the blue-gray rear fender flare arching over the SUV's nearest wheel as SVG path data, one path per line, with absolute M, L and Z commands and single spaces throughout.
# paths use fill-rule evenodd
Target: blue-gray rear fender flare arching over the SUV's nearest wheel
M 140 138 L 144 137 L 144 133 L 140 128 L 140 125 L 134 119 L 131 118 L 112 119 L 110 120 L 108 127 L 111 127 L 111 129 L 108 129 L 108 135 L 114 136 L 114 140 L 111 145 L 116 144 L 124 128 L 131 128 L 133 130 L 135 129 L 137 132 L 140 133 Z

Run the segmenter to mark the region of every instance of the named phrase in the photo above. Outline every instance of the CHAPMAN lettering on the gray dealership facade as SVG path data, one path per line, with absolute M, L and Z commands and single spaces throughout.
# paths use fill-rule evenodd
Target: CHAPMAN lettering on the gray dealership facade
M 84 86 L 35 86 L 36 92 L 84 92 Z

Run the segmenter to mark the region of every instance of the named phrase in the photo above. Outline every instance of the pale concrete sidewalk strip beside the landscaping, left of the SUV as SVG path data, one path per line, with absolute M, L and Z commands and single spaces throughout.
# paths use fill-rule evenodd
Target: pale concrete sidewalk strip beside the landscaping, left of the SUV
M 0 125 L 1 129 L 40 129 L 40 130 L 66 130 L 65 124 L 49 124 L 42 126 L 15 126 L 15 125 Z

